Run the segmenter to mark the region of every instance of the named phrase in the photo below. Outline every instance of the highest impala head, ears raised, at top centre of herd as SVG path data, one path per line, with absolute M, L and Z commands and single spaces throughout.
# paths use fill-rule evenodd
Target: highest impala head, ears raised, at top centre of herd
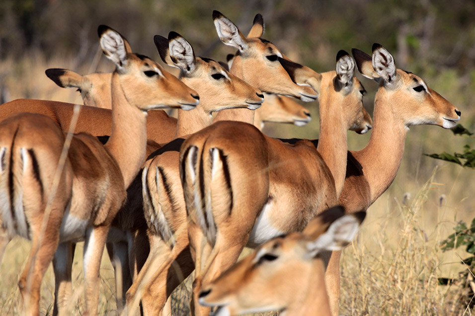
M 213 11 L 213 20 L 221 41 L 237 48 L 233 69 L 249 84 L 263 92 L 296 97 L 305 102 L 314 101 L 316 92 L 309 86 L 299 86 L 279 62 L 282 53 L 271 42 L 260 38 L 264 32 L 264 21 L 260 14 L 254 18 L 253 26 L 244 37 L 237 26 L 221 12 Z

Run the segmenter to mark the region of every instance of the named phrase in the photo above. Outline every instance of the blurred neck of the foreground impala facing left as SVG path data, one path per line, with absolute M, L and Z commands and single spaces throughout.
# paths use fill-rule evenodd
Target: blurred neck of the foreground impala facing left
M 293 298 L 293 304 L 281 313 L 282 316 L 330 316 L 330 304 L 324 283 L 324 266 L 321 260 L 316 260 L 314 268 L 309 273 L 307 287 L 300 291 L 300 295 Z

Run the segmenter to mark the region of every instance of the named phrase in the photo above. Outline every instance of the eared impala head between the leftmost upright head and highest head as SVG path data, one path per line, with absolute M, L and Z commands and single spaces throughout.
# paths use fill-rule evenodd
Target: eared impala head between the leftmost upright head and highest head
M 230 108 L 255 110 L 264 96 L 260 90 L 229 73 L 220 63 L 195 57 L 193 48 L 181 35 L 168 34 L 168 39 L 154 37 L 164 63 L 180 69 L 180 78 L 187 86 L 200 91 L 200 107 L 207 113 Z

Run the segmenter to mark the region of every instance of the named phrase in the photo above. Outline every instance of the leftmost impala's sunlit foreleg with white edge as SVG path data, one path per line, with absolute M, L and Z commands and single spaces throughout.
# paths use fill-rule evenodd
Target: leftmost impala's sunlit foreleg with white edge
M 99 269 L 109 226 L 89 227 L 84 241 L 85 315 L 97 315 Z

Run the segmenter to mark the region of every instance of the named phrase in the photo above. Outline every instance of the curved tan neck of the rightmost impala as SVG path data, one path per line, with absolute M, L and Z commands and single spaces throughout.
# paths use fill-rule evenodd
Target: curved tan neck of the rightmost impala
M 373 131 L 368 145 L 354 152 L 354 157 L 362 166 L 370 186 L 373 203 L 396 178 L 404 153 L 407 128 L 395 117 L 392 101 L 384 88 L 380 88 L 375 98 Z M 371 204 L 370 203 L 370 204 Z

